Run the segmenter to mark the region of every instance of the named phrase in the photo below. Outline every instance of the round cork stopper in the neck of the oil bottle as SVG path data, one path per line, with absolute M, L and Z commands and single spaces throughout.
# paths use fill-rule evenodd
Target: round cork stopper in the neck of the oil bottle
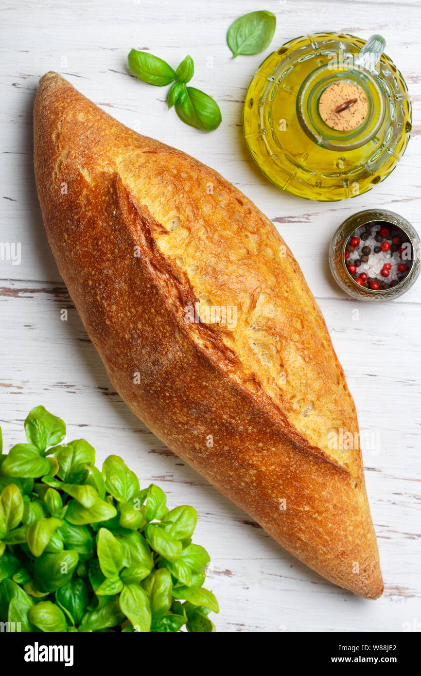
M 319 100 L 322 120 L 337 131 L 350 131 L 367 116 L 368 101 L 364 90 L 353 82 L 334 82 L 326 87 Z

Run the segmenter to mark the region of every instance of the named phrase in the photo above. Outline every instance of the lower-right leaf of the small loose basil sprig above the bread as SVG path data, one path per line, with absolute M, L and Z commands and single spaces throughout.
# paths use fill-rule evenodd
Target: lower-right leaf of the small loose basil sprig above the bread
M 200 89 L 186 87 L 175 102 L 176 114 L 186 124 L 204 131 L 216 129 L 222 122 L 218 103 Z

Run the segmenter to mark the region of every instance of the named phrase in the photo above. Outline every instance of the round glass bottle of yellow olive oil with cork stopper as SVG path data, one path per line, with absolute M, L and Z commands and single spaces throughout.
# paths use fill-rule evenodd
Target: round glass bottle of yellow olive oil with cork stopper
M 272 53 L 251 80 L 247 145 L 282 190 L 338 201 L 395 168 L 410 137 L 411 104 L 385 41 L 318 33 Z

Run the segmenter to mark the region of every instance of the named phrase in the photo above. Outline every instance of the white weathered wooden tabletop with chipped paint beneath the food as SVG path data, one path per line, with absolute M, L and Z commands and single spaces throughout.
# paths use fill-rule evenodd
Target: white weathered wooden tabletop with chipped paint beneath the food
M 272 51 L 232 61 L 228 26 L 271 9 L 272 49 L 318 30 L 368 38 L 380 32 L 407 81 L 414 131 L 401 164 L 370 193 L 322 204 L 283 194 L 259 173 L 245 147 L 241 110 L 247 84 Z M 32 406 L 85 437 L 102 462 L 122 454 L 168 493 L 170 505 L 199 512 L 196 541 L 212 556 L 208 585 L 220 601 L 218 631 L 421 631 L 420 333 L 421 280 L 395 301 L 366 305 L 335 286 L 326 260 L 339 223 L 385 207 L 421 224 L 420 5 L 399 1 L 10 0 L 1 13 L 1 242 L 20 242 L 22 262 L 0 261 L 1 426 L 8 450 L 21 441 Z M 222 110 L 218 130 L 185 126 L 166 110 L 165 92 L 128 75 L 131 47 L 177 66 L 195 61 L 194 84 Z M 293 249 L 326 318 L 363 430 L 381 450 L 364 456 L 366 482 L 385 577 L 375 602 L 330 585 L 282 550 L 251 518 L 220 496 L 135 418 L 110 385 L 61 281 L 45 237 L 32 171 L 32 101 L 39 77 L 57 70 L 124 124 L 175 145 L 245 192 Z M 60 310 L 68 308 L 68 321 Z M 355 310 L 358 310 L 355 313 Z

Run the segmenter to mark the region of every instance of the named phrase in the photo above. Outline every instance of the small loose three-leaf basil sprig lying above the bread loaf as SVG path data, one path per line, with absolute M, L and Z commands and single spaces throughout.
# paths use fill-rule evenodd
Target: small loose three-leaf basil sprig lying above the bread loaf
M 132 49 L 128 55 L 130 70 L 143 82 L 164 87 L 173 82 L 168 92 L 168 108 L 175 107 L 176 114 L 189 126 L 212 131 L 222 122 L 218 103 L 195 87 L 187 87 L 195 72 L 191 56 L 187 55 L 174 71 L 163 59 L 146 51 Z

